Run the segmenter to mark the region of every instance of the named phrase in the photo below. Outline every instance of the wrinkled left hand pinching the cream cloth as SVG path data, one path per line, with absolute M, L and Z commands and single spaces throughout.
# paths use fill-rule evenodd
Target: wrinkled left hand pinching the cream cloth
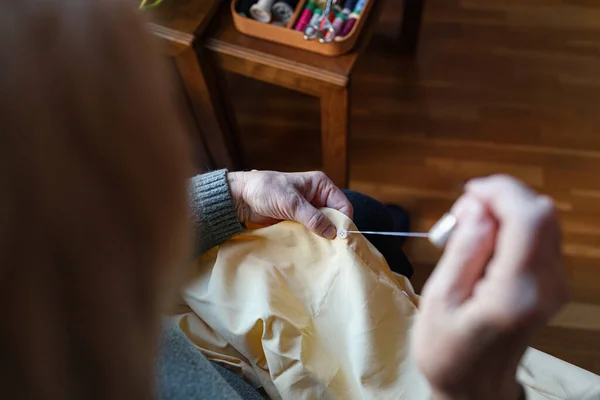
M 337 229 L 318 208 L 334 208 L 352 218 L 352 204 L 323 172 L 230 172 L 227 179 L 242 223 L 297 221 L 333 239 Z

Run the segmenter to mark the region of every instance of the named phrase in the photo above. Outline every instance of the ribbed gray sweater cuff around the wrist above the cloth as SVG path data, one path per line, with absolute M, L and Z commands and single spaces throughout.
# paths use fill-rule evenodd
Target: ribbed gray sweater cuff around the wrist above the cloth
M 192 178 L 189 197 L 197 255 L 243 230 L 229 192 L 227 170 L 212 171 Z

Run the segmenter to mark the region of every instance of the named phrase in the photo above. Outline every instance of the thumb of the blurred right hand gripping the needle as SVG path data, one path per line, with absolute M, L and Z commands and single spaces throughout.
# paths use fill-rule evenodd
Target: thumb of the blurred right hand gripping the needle
M 484 204 L 463 195 L 452 207 L 456 229 L 424 290 L 457 305 L 471 295 L 492 256 L 496 222 Z

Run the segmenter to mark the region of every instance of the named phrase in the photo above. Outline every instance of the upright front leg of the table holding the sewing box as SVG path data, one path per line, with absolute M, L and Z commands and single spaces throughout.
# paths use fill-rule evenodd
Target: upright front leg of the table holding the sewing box
M 332 88 L 321 95 L 321 151 L 323 171 L 341 188 L 348 186 L 347 88 Z

